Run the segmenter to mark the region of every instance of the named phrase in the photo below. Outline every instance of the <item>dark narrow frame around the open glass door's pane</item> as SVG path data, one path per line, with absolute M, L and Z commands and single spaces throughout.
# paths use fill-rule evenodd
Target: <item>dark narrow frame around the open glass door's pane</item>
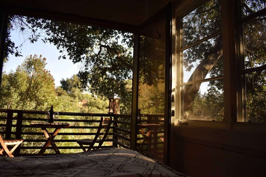
M 138 89 L 139 89 L 139 42 L 140 33 L 150 24 L 165 18 L 165 95 L 164 95 L 164 153 L 163 162 L 169 164 L 169 145 L 171 131 L 171 94 L 172 94 L 172 4 L 169 3 L 155 15 L 136 28 L 134 33 L 133 78 L 132 78 L 132 111 L 131 111 L 131 141 L 130 148 L 136 150 Z

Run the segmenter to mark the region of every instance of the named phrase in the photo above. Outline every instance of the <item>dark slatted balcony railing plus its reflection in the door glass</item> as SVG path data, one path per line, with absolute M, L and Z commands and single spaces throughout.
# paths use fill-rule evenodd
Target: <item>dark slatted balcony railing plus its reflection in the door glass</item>
M 31 126 L 31 122 L 46 122 L 45 112 L 30 110 L 0 109 L 0 133 L 6 138 L 23 139 L 23 143 L 15 152 L 15 156 L 35 156 L 47 140 L 41 129 Z M 137 131 L 137 150 L 148 157 L 163 160 L 163 122 L 164 115 L 139 114 L 138 124 L 159 124 L 152 129 L 151 144 L 144 141 L 143 135 Z M 130 114 L 94 114 L 94 113 L 67 113 L 59 112 L 57 122 L 66 122 L 70 126 L 62 128 L 55 137 L 55 143 L 61 153 L 82 152 L 76 143 L 77 139 L 93 139 L 99 126 L 100 118 L 112 117 L 109 134 L 102 148 L 127 148 L 130 149 L 131 141 L 131 115 Z M 139 127 L 143 132 L 149 131 L 149 127 Z M 48 131 L 52 131 L 48 129 Z M 103 132 L 100 133 L 103 135 Z M 144 143 L 143 143 L 144 141 Z M 142 144 L 143 143 L 143 144 Z M 140 145 L 142 144 L 141 148 Z M 95 144 L 97 145 L 97 144 Z M 96 147 L 96 146 L 95 146 Z M 44 155 L 55 154 L 51 146 Z

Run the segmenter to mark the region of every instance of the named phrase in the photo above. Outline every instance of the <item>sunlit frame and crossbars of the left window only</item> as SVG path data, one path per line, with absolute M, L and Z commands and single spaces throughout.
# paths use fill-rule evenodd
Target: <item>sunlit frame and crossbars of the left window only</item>
M 217 128 L 217 129 L 225 129 L 225 121 L 212 121 L 212 120 L 192 120 L 192 119 L 181 119 L 183 118 L 183 110 L 182 110 L 182 93 L 183 93 L 183 86 L 190 85 L 190 84 L 196 84 L 196 83 L 203 83 L 207 81 L 212 80 L 218 80 L 218 79 L 224 79 L 223 76 L 217 76 L 217 77 L 210 77 L 207 79 L 197 80 L 197 81 L 190 81 L 190 82 L 183 82 L 183 51 L 186 49 L 189 49 L 190 47 L 193 47 L 197 44 L 200 44 L 201 42 L 207 41 L 215 36 L 221 35 L 222 30 L 217 31 L 213 34 L 210 34 L 209 36 L 206 36 L 196 42 L 193 42 L 192 44 L 189 44 L 185 47 L 182 46 L 183 44 L 183 27 L 182 27 L 182 19 L 186 15 L 188 15 L 190 12 L 201 6 L 202 4 L 206 3 L 209 0 L 197 0 L 191 4 L 189 4 L 189 7 L 186 7 L 185 11 L 179 12 L 179 9 L 184 7 L 177 7 L 175 17 L 176 17 L 176 104 L 175 107 L 177 107 L 177 115 L 176 115 L 176 124 L 179 126 L 195 126 L 195 127 L 206 127 L 206 128 Z M 221 2 L 220 2 L 221 5 Z M 221 12 L 222 16 L 222 12 Z M 225 119 L 225 118 L 224 118 Z

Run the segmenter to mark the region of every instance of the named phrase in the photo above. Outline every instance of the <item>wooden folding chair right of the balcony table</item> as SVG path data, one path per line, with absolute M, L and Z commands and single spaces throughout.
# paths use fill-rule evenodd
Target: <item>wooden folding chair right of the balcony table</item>
M 107 135 L 108 135 L 108 132 L 109 132 L 109 129 L 110 129 L 110 126 L 111 126 L 111 123 L 112 123 L 112 118 L 103 118 L 101 117 L 101 120 L 100 120 L 100 124 L 99 124 L 99 128 L 97 130 L 97 133 L 94 137 L 94 139 L 83 139 L 83 140 L 76 140 L 77 143 L 81 146 L 81 148 L 84 150 L 84 152 L 88 151 L 88 150 L 91 150 L 91 149 L 95 149 L 94 148 L 94 144 L 95 143 L 99 143 L 99 145 L 97 146 L 97 149 L 101 148 L 104 140 L 106 139 Z M 103 135 L 103 138 L 102 139 L 98 139 L 98 136 L 101 132 L 101 129 L 106 129 L 104 135 Z M 89 145 L 89 146 L 83 146 L 83 145 Z M 88 148 L 88 150 L 86 150 L 85 148 Z

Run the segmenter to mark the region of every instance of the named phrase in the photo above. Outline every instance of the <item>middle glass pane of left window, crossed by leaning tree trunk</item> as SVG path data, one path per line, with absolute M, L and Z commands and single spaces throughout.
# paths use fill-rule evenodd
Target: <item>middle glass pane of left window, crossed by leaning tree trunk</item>
M 223 76 L 222 35 L 183 51 L 183 82 Z

